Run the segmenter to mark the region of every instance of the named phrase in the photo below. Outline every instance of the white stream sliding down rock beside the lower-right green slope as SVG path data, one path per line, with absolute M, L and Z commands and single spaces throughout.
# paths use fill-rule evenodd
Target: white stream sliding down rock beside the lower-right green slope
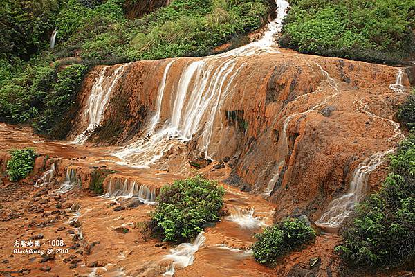
M 362 161 L 353 172 L 349 191 L 345 195 L 334 199 L 316 223 L 328 227 L 338 227 L 342 224 L 344 219 L 353 211 L 356 202 L 365 196 L 370 173 L 376 170 L 382 164 L 384 157 L 393 151 L 394 149 L 376 153 Z

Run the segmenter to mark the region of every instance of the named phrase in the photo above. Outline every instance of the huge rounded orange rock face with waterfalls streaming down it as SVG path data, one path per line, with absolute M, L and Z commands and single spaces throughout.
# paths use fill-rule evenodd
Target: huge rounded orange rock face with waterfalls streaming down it
M 140 148 L 174 126 L 177 136 L 169 134 L 164 152 L 157 152 L 167 163 L 178 148 L 192 157 L 232 157 L 234 175 L 279 203 L 277 217 L 297 209 L 316 220 L 349 187 L 362 161 L 402 139 L 393 120 L 405 93 L 389 87 L 397 73 L 391 66 L 295 53 L 134 62 L 90 141 L 138 141 Z M 81 100 L 93 85 L 88 80 Z M 409 87 L 405 73 L 403 86 Z M 73 135 L 85 126 L 78 122 Z M 165 146 L 178 137 L 189 141 Z M 124 158 L 139 163 L 140 155 Z M 368 183 L 376 187 L 384 175 L 379 166 Z

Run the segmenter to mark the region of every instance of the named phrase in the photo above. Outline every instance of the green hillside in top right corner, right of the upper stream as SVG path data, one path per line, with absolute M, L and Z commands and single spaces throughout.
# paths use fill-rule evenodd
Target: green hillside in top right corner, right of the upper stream
M 292 0 L 282 46 L 301 53 L 397 62 L 415 53 L 414 0 Z

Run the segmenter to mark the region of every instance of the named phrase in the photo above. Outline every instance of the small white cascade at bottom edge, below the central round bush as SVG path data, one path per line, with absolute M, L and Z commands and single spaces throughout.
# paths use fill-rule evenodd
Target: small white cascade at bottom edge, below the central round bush
M 192 265 L 194 261 L 194 253 L 199 250 L 204 242 L 205 236 L 203 235 L 203 232 L 201 232 L 197 235 L 193 243 L 178 244 L 176 248 L 170 250 L 170 253 L 165 256 L 165 259 L 172 260 L 173 262 L 163 276 L 173 276 L 176 267 L 184 268 Z

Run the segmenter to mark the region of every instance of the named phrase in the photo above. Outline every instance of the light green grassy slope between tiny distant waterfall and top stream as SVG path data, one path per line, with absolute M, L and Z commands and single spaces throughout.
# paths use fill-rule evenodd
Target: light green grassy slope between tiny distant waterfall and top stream
M 57 18 L 57 55 L 106 63 L 155 60 L 212 53 L 233 37 L 266 22 L 266 0 L 174 0 L 134 21 L 123 0 L 89 8 L 68 1 Z

